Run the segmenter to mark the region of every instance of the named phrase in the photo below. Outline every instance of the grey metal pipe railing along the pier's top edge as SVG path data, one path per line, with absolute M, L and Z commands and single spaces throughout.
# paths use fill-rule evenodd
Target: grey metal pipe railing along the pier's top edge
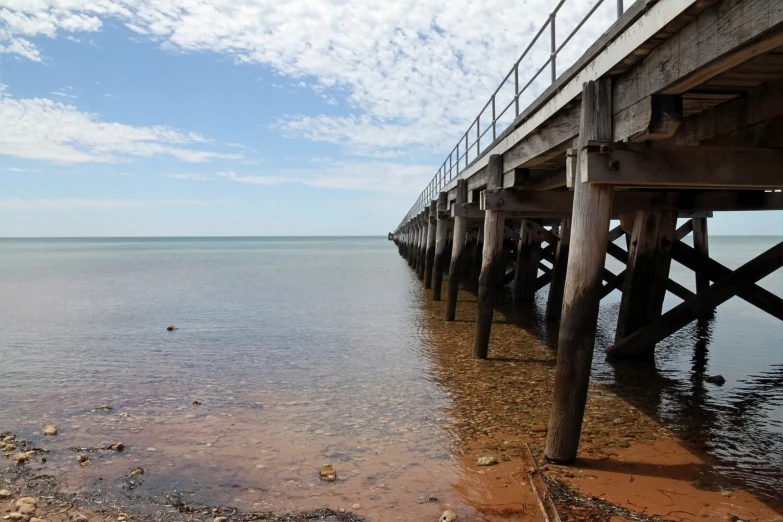
M 576 2 L 580 2 L 582 0 L 570 0 L 569 5 L 574 5 Z M 445 187 L 449 182 L 451 182 L 454 178 L 459 176 L 459 174 L 468 167 L 470 164 L 469 157 L 471 153 L 473 154 L 473 158 L 478 158 L 481 155 L 481 152 L 486 150 L 486 148 L 494 143 L 494 141 L 497 139 L 499 133 L 503 132 L 506 127 L 511 125 L 514 120 L 519 116 L 520 110 L 519 110 L 519 100 L 520 97 L 527 91 L 527 89 L 533 85 L 533 83 L 541 76 L 541 74 L 548 68 L 550 69 L 550 85 L 551 83 L 554 83 L 555 80 L 557 80 L 557 56 L 560 54 L 560 52 L 563 50 L 563 48 L 571 41 L 571 39 L 576 35 L 576 33 L 579 32 L 580 29 L 584 26 L 584 24 L 595 14 L 595 12 L 598 10 L 598 8 L 604 3 L 605 0 L 596 0 L 595 4 L 590 8 L 590 10 L 587 12 L 587 14 L 581 19 L 581 21 L 574 27 L 574 29 L 568 34 L 568 36 L 560 42 L 560 44 L 557 43 L 557 34 L 556 34 L 556 22 L 557 22 L 557 14 L 561 11 L 564 4 L 568 3 L 569 0 L 558 0 L 557 5 L 555 5 L 554 10 L 549 14 L 544 24 L 541 26 L 541 28 L 538 30 L 536 35 L 533 37 L 532 41 L 525 47 L 525 50 L 522 52 L 522 55 L 517 59 L 516 62 L 514 62 L 513 67 L 511 70 L 506 74 L 506 76 L 503 78 L 503 80 L 500 82 L 500 85 L 498 85 L 497 89 L 492 93 L 492 95 L 489 97 L 489 100 L 487 100 L 487 103 L 484 104 L 484 106 L 481 108 L 481 110 L 478 113 L 478 116 L 471 122 L 468 129 L 465 131 L 465 133 L 460 137 L 459 141 L 457 141 L 457 144 L 454 146 L 454 148 L 451 149 L 451 152 L 449 152 L 449 155 L 446 157 L 446 159 L 441 164 L 438 171 L 435 173 L 435 176 L 433 176 L 432 180 L 427 184 L 426 188 L 422 191 L 422 193 L 419 195 L 419 197 L 416 199 L 416 202 L 413 204 L 411 209 L 408 211 L 408 213 L 405 215 L 405 217 L 400 222 L 400 225 L 398 228 L 405 223 L 408 222 L 408 220 L 420 212 L 425 206 L 427 206 L 430 201 L 434 200 L 438 192 Z M 616 0 L 617 2 L 617 18 L 619 18 L 623 14 L 623 0 Z M 525 81 L 525 83 L 520 87 L 520 78 L 519 78 L 519 65 L 524 60 L 527 55 L 530 53 L 530 51 L 533 49 L 533 46 L 539 41 L 541 36 L 546 32 L 546 30 L 549 29 L 549 35 L 550 35 L 550 54 L 549 58 L 544 61 L 543 64 L 541 64 L 533 74 L 533 76 Z M 514 83 L 514 94 L 511 96 L 511 100 L 507 101 L 507 98 L 503 101 L 500 101 L 499 98 L 501 97 L 501 91 L 503 88 L 511 81 L 513 78 Z M 502 104 L 499 106 L 499 103 Z M 508 123 L 505 123 L 502 121 L 504 117 L 509 118 L 509 111 L 511 111 L 513 108 L 513 120 L 509 121 Z M 487 120 L 489 118 L 489 120 Z M 484 128 L 482 130 L 482 122 L 484 122 Z M 499 125 L 500 124 L 500 125 Z M 491 133 L 491 138 L 488 136 Z M 484 147 L 482 148 L 482 142 L 484 143 Z

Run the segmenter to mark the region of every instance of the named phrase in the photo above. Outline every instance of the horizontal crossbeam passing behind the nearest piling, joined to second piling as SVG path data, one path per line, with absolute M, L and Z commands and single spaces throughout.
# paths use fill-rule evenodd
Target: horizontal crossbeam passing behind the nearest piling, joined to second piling
M 782 171 L 783 172 L 783 171 Z M 570 213 L 574 194 L 565 191 L 526 192 L 514 190 L 485 191 L 482 206 L 485 210 L 506 210 L 510 215 Z M 615 192 L 612 215 L 626 212 L 701 212 L 783 210 L 783 193 L 761 190 L 678 190 Z

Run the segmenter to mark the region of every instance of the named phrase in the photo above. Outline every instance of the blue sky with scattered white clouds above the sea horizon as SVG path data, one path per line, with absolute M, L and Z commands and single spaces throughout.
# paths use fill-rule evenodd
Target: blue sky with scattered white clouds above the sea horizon
M 0 0 L 0 237 L 385 234 L 554 3 Z M 566 2 L 559 42 L 593 3 Z M 783 217 L 710 228 L 748 230 Z

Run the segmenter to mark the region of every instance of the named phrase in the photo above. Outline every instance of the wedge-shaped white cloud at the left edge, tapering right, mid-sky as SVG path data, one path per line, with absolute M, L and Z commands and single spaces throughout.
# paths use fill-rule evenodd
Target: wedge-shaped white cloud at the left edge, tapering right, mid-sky
M 0 155 L 60 163 L 121 162 L 133 157 L 172 156 L 189 163 L 241 159 L 204 150 L 207 139 L 170 127 L 137 127 L 101 121 L 73 105 L 46 98 L 17 99 L 0 84 Z

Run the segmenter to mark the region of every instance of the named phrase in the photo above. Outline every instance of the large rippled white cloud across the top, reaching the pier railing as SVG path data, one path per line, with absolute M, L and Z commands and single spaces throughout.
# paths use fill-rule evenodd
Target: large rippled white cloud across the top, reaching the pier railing
M 593 3 L 566 2 L 557 19 L 558 41 Z M 26 38 L 97 31 L 103 21 L 116 18 L 136 38 L 149 38 L 169 50 L 210 51 L 239 62 L 268 65 L 325 94 L 326 103 L 336 102 L 328 90 L 344 92 L 349 116 L 292 115 L 277 123 L 289 136 L 337 143 L 358 154 L 442 150 L 445 156 L 553 4 L 552 0 L 0 0 L 0 46 L 3 52 L 41 60 L 40 51 Z M 604 4 L 558 57 L 559 71 L 609 26 L 614 2 Z M 521 84 L 548 55 L 545 34 L 521 64 Z M 548 77 L 547 70 L 522 97 L 522 107 L 546 87 Z M 502 102 L 510 101 L 507 89 L 503 92 Z M 498 109 L 504 104 L 499 98 Z

